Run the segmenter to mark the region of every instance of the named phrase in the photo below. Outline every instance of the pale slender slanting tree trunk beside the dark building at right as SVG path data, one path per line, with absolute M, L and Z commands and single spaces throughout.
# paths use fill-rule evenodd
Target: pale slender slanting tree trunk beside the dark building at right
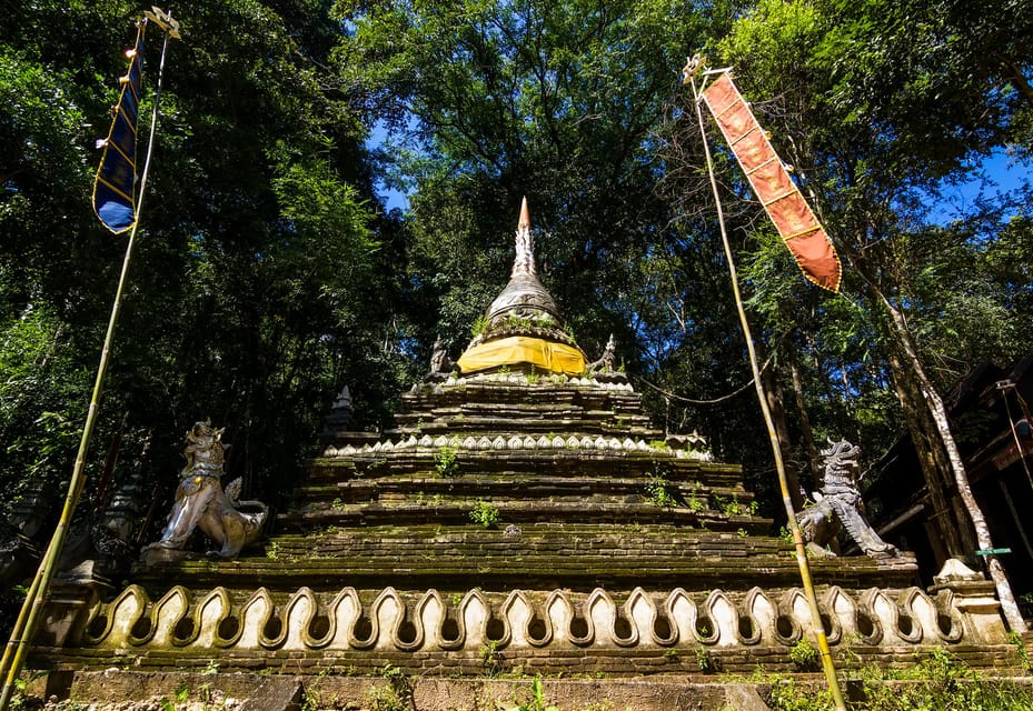
M 946 450 L 947 461 L 951 465 L 951 472 L 954 474 L 954 482 L 957 485 L 957 494 L 961 497 L 961 500 L 965 505 L 965 510 L 969 512 L 969 517 L 972 519 L 972 525 L 975 529 L 976 542 L 979 543 L 981 550 L 990 550 L 994 547 L 993 540 L 990 535 L 990 527 L 986 525 L 986 519 L 983 517 L 983 511 L 980 509 L 980 504 L 976 502 L 975 497 L 972 494 L 972 487 L 969 485 L 969 475 L 965 472 L 965 464 L 962 461 L 961 452 L 957 450 L 957 443 L 954 441 L 954 435 L 951 433 L 947 409 L 944 405 L 940 393 L 936 392 L 933 383 L 925 374 L 925 370 L 922 368 L 922 361 L 918 358 L 917 349 L 911 340 L 911 332 L 907 329 L 904 314 L 901 313 L 901 311 L 892 303 L 890 303 L 890 300 L 886 299 L 886 297 L 881 291 L 877 289 L 875 289 L 875 291 L 880 301 L 888 312 L 890 324 L 893 328 L 894 334 L 896 336 L 893 346 L 900 349 L 901 353 L 905 358 L 904 364 L 910 367 L 914 372 L 916 384 L 918 385 L 925 404 L 928 408 L 928 414 L 935 424 L 937 433 L 940 434 L 940 440 L 943 443 L 944 450 Z M 1001 561 L 996 555 L 986 555 L 986 567 L 990 569 L 990 577 L 994 581 L 994 587 L 997 589 L 997 598 L 1001 601 L 1001 610 L 1004 613 L 1004 619 L 1007 620 L 1009 627 L 1015 632 L 1025 632 L 1025 620 L 1022 619 L 1022 613 L 1019 611 L 1019 604 L 1015 602 L 1015 595 L 1012 593 L 1012 587 L 1007 581 L 1007 577 L 1004 574 L 1004 568 L 1001 565 Z

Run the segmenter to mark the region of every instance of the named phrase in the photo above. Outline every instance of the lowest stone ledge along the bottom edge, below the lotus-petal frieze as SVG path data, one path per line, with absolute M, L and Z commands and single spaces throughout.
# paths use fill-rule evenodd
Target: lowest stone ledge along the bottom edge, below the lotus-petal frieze
M 961 682 L 965 688 L 986 689 L 997 685 L 1007 689 L 1006 693 L 1015 703 L 1020 700 L 1029 702 L 1033 697 L 1029 678 L 1016 678 L 1014 665 L 1010 668 L 987 664 L 987 653 L 983 650 L 956 651 L 962 662 L 983 671 L 980 677 Z M 996 651 L 1007 657 L 1005 648 L 999 647 Z M 714 659 L 722 661 L 723 657 L 718 651 Z M 37 657 L 37 660 L 43 659 L 46 657 L 42 654 Z M 98 660 L 88 655 L 78 661 L 87 668 L 101 665 Z M 191 668 L 199 669 L 205 660 L 195 661 Z M 752 675 L 751 672 L 756 670 L 746 670 L 738 679 L 724 675 L 716 669 L 704 672 L 697 668 L 698 664 L 692 655 L 667 657 L 665 664 L 672 670 L 665 675 L 616 678 L 600 672 L 594 678 L 572 679 L 570 674 L 537 677 L 532 669 L 506 678 L 496 678 L 487 671 L 471 677 L 458 677 L 454 673 L 449 677 L 447 674 L 454 672 L 453 667 L 439 667 L 420 674 L 405 674 L 395 671 L 396 668 L 389 662 L 383 664 L 379 670 L 370 669 L 362 673 L 352 671 L 347 664 L 337 663 L 337 660 L 324 660 L 314 664 L 309 659 L 298 660 L 292 669 L 285 660 L 282 670 L 276 673 L 160 672 L 145 671 L 151 667 L 145 659 L 140 664 L 145 670 L 108 668 L 97 671 L 52 671 L 27 684 L 26 700 L 28 708 L 39 708 L 53 697 L 56 704 L 63 704 L 58 708 L 81 707 L 92 711 L 165 708 L 162 701 L 171 705 L 177 699 L 182 701 L 176 708 L 199 710 L 221 708 L 238 711 L 371 711 L 398 708 L 457 711 L 539 708 L 532 705 L 537 694 L 547 707 L 559 709 L 771 711 L 772 707 L 768 703 L 776 685 L 785 688 L 792 683 L 799 699 L 808 695 L 816 699 L 826 689 L 824 679 L 817 673 L 794 673 L 792 678 L 768 673 L 766 681 L 753 681 L 747 679 Z M 376 673 L 377 671 L 379 673 Z M 774 671 L 773 667 L 768 667 L 767 671 Z M 931 683 L 936 690 L 942 690 L 943 687 L 942 680 L 933 679 L 914 678 L 880 682 L 871 674 L 867 678 L 856 673 L 850 675 L 855 678 L 846 679 L 842 688 L 851 708 L 863 703 L 868 693 L 878 688 L 888 687 L 904 691 L 924 683 Z M 131 702 L 140 705 L 131 707 Z M 389 703 L 395 705 L 388 705 Z

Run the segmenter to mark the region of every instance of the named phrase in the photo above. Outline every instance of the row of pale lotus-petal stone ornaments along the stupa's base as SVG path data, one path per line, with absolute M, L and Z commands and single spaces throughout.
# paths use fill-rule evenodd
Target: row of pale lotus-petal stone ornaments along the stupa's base
M 918 588 L 900 591 L 827 588 L 821 594 L 828 641 L 851 648 L 940 648 L 957 644 L 967 631 L 980 641 L 1003 639 L 1000 618 L 979 615 L 954 595 L 930 597 Z M 98 649 L 295 650 L 393 652 L 498 650 L 648 650 L 695 648 L 769 650 L 785 653 L 811 627 L 801 590 L 768 594 L 682 588 L 666 593 L 635 588 L 615 599 L 589 593 L 470 590 L 446 599 L 437 590 L 401 594 L 394 588 L 335 594 L 301 588 L 290 595 L 259 588 L 248 597 L 216 588 L 182 587 L 151 601 L 130 585 L 95 605 L 82 644 Z M 969 637 L 971 641 L 971 635 Z

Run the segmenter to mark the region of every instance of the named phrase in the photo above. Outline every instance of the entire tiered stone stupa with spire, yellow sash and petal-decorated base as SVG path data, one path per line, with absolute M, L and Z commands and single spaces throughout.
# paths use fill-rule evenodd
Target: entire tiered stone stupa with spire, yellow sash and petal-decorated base
M 457 368 L 436 358 L 404 394 L 393 429 L 324 433 L 259 549 L 64 590 L 33 663 L 73 670 L 87 698 L 101 682 L 85 670 L 215 665 L 321 690 L 311 708 L 406 679 L 420 709 L 481 708 L 501 672 L 579 679 L 565 698 L 620 709 L 673 709 L 672 694 L 716 709 L 725 697 L 693 685 L 707 673 L 807 671 L 791 654 L 812 625 L 791 544 L 739 467 L 655 429 L 612 357 L 587 362 L 537 276 L 526 201 L 484 321 Z M 907 554 L 812 568 L 841 665 L 944 645 L 1013 663 L 992 585 L 962 565 L 931 590 L 911 585 Z

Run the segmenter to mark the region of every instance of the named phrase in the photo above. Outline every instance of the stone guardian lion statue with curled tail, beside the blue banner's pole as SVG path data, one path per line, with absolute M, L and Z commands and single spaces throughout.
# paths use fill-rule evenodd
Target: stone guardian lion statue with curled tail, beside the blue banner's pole
M 222 462 L 228 447 L 222 444 L 224 431 L 225 428 L 212 428 L 210 421 L 198 422 L 187 431 L 183 449 L 187 465 L 179 474 L 168 525 L 161 539 L 145 548 L 145 552 L 182 550 L 196 529 L 221 545 L 208 552 L 212 558 L 236 558 L 246 545 L 258 540 L 269 509 L 261 501 L 237 501 L 240 479 L 224 490 Z M 257 510 L 244 512 L 240 508 Z

